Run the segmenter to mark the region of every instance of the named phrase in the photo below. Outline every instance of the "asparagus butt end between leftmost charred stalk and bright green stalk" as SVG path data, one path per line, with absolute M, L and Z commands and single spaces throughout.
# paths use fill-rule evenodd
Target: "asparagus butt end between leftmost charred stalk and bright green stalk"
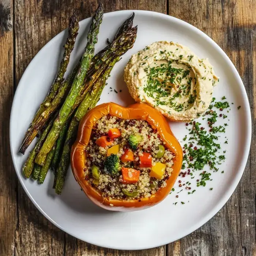
M 30 152 L 29 157 L 27 158 L 26 162 L 23 165 L 23 173 L 27 178 L 30 177 L 30 175 L 33 171 L 35 157 L 38 154 L 40 148 L 42 147 L 42 144 L 44 143 L 44 140 L 46 139 L 46 136 L 48 135 L 50 129 L 52 128 L 55 117 L 56 117 L 56 115 L 52 118 L 52 120 L 50 120 L 49 124 L 46 126 L 44 131 L 41 133 L 37 143 L 35 144 L 35 147 Z

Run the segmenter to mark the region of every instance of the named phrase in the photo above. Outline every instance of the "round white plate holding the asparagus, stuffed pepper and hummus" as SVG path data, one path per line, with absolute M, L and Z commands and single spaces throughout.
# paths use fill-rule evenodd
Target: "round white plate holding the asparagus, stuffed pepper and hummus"
M 134 25 L 138 25 L 138 36 L 134 47 L 116 64 L 108 79 L 99 103 L 117 102 L 128 105 L 133 102 L 123 81 L 123 70 L 131 54 L 154 41 L 167 40 L 188 46 L 198 56 L 208 57 L 214 66 L 220 82 L 215 87 L 214 97 L 226 95 L 233 102 L 229 114 L 229 126 L 225 136 L 229 144 L 220 141 L 227 150 L 227 160 L 221 166 L 225 173 L 212 174 L 212 181 L 206 187 L 196 188 L 193 195 L 175 193 L 153 208 L 137 212 L 110 212 L 98 208 L 87 199 L 76 184 L 71 170 L 68 172 L 61 196 L 52 189 L 53 174 L 48 173 L 43 185 L 27 180 L 22 175 L 22 165 L 32 149 L 25 156 L 18 154 L 18 148 L 39 103 L 44 99 L 59 66 L 67 30 L 54 37 L 34 57 L 16 90 L 10 121 L 10 144 L 14 166 L 27 195 L 39 211 L 60 229 L 91 244 L 114 249 L 146 249 L 173 242 L 198 229 L 214 216 L 234 192 L 249 154 L 251 143 L 251 114 L 248 98 L 242 80 L 229 58 L 219 46 L 202 31 L 188 23 L 155 12 L 134 11 Z M 106 38 L 114 35 L 121 23 L 132 11 L 111 12 L 104 15 L 100 28 L 96 51 L 105 46 Z M 83 53 L 86 45 L 86 32 L 91 19 L 80 22 L 79 35 L 71 56 L 71 65 Z M 109 87 L 122 93 L 110 92 Z M 108 94 L 109 93 L 109 94 Z M 241 105 L 238 111 L 237 106 Z M 185 134 L 184 123 L 171 124 L 174 134 L 182 140 Z M 195 187 L 195 180 L 193 185 Z M 210 191 L 210 187 L 214 189 Z M 185 204 L 181 204 L 183 201 Z M 189 201 L 189 202 L 188 202 Z M 174 206 L 174 202 L 178 202 Z

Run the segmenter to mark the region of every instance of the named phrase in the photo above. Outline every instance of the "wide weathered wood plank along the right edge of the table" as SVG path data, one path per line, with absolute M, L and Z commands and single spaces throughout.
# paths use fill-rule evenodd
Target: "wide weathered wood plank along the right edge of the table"
M 255 1 L 170 1 L 169 14 L 208 34 L 227 53 L 244 82 L 252 109 L 252 147 L 245 173 L 227 204 L 203 227 L 168 246 L 167 255 L 256 255 Z

